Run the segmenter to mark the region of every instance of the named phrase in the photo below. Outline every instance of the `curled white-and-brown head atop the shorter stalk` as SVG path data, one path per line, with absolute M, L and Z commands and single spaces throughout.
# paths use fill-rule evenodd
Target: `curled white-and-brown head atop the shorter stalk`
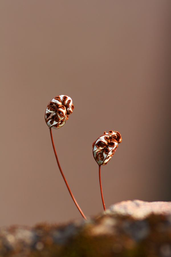
M 103 136 L 97 138 L 93 143 L 93 156 L 99 165 L 105 165 L 111 159 L 118 147 L 118 143 L 122 142 L 121 134 L 117 131 L 110 130 L 109 133 L 104 132 Z

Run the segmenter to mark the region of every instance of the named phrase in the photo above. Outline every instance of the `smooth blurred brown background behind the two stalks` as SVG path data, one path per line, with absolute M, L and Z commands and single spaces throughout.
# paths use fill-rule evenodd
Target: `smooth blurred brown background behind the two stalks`
M 75 109 L 52 130 L 71 190 L 87 216 L 103 211 L 92 143 L 123 141 L 102 166 L 106 207 L 171 200 L 168 0 L 1 0 L 0 226 L 81 218 L 58 170 L 46 106 Z

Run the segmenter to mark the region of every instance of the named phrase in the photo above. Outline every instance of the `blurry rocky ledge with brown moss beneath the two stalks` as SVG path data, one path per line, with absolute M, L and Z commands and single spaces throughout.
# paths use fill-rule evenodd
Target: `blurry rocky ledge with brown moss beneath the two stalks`
M 0 256 L 171 257 L 171 202 L 123 201 L 88 221 L 2 227 Z

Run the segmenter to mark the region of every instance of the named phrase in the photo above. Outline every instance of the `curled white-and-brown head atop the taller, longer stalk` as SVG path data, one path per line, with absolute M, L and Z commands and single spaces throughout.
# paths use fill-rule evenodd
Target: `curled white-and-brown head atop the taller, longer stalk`
M 74 110 L 72 99 L 68 95 L 58 95 L 47 106 L 45 113 L 46 124 L 50 128 L 60 128 L 64 126 L 68 115 Z

